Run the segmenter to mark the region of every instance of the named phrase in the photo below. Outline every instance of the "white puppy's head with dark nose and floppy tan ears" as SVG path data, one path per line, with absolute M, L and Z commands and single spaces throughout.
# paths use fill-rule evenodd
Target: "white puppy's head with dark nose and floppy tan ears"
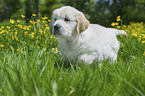
M 89 21 L 73 7 L 64 6 L 53 11 L 50 32 L 56 37 L 71 37 L 85 31 Z

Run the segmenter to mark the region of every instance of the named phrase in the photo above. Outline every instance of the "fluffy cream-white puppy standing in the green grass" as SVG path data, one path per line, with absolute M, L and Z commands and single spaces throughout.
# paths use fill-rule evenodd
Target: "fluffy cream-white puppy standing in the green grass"
M 50 32 L 58 38 L 64 61 L 91 64 L 110 59 L 117 62 L 120 43 L 117 35 L 123 30 L 90 24 L 77 9 L 64 6 L 53 11 Z

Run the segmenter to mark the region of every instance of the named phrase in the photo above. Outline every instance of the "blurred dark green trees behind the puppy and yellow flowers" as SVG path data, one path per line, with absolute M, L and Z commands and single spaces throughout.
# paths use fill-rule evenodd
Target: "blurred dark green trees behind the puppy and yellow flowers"
M 0 23 L 25 15 L 25 21 L 47 16 L 61 6 L 72 6 L 82 11 L 91 23 L 111 26 L 117 16 L 124 24 L 145 22 L 145 0 L 0 0 Z

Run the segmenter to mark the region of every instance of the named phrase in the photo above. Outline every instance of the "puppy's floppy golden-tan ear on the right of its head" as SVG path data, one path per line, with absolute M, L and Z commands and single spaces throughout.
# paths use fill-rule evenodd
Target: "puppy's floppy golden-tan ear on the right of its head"
M 82 12 L 77 14 L 77 32 L 78 34 L 86 30 L 89 26 L 89 21 L 86 19 L 85 15 Z

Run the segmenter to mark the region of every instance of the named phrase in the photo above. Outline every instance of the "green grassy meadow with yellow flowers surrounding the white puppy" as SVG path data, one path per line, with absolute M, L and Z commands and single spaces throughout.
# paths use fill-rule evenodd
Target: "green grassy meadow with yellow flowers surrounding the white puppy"
M 24 23 L 24 15 L 0 24 L 0 96 L 145 96 L 145 24 L 111 25 L 128 34 L 118 36 L 118 62 L 66 68 L 50 19 Z

